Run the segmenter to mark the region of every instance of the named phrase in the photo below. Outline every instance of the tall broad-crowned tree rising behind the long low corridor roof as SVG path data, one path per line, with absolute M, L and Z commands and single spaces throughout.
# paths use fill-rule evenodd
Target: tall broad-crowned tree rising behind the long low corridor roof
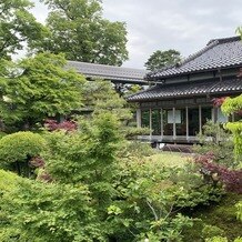
M 40 49 L 63 52 L 69 60 L 121 65 L 128 59 L 123 22 L 103 19 L 99 0 L 42 0 L 51 9 L 51 37 Z

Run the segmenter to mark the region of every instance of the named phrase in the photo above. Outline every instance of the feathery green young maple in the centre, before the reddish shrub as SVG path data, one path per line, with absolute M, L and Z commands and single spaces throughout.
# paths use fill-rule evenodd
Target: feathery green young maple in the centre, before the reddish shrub
M 80 125 L 79 132 L 47 134 L 46 167 L 58 182 L 88 184 L 101 211 L 115 195 L 111 179 L 115 174 L 121 140 L 119 124 L 112 114 L 102 113 Z

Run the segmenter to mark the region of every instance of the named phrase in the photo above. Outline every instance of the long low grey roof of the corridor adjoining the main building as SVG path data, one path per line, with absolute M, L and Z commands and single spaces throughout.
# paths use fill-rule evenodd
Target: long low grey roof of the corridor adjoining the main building
M 79 61 L 68 61 L 67 68 L 73 68 L 79 73 L 84 74 L 87 78 L 100 78 L 113 82 L 125 83 L 147 83 L 144 81 L 145 70 L 121 68 L 107 64 L 95 64 Z

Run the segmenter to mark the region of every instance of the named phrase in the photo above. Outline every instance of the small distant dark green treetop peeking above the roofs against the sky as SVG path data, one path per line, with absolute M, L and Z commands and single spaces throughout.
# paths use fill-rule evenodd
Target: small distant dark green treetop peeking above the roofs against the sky
M 181 53 L 177 50 L 157 50 L 154 51 L 148 61 L 144 63 L 150 71 L 155 71 L 164 67 L 175 64 L 181 61 Z

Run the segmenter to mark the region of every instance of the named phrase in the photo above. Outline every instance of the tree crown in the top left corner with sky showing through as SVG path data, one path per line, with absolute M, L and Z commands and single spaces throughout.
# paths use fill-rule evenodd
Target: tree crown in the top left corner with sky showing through
M 29 10 L 33 7 L 29 0 L 4 0 L 0 2 L 0 59 L 23 48 L 23 43 L 33 47 L 36 41 L 48 33 Z

